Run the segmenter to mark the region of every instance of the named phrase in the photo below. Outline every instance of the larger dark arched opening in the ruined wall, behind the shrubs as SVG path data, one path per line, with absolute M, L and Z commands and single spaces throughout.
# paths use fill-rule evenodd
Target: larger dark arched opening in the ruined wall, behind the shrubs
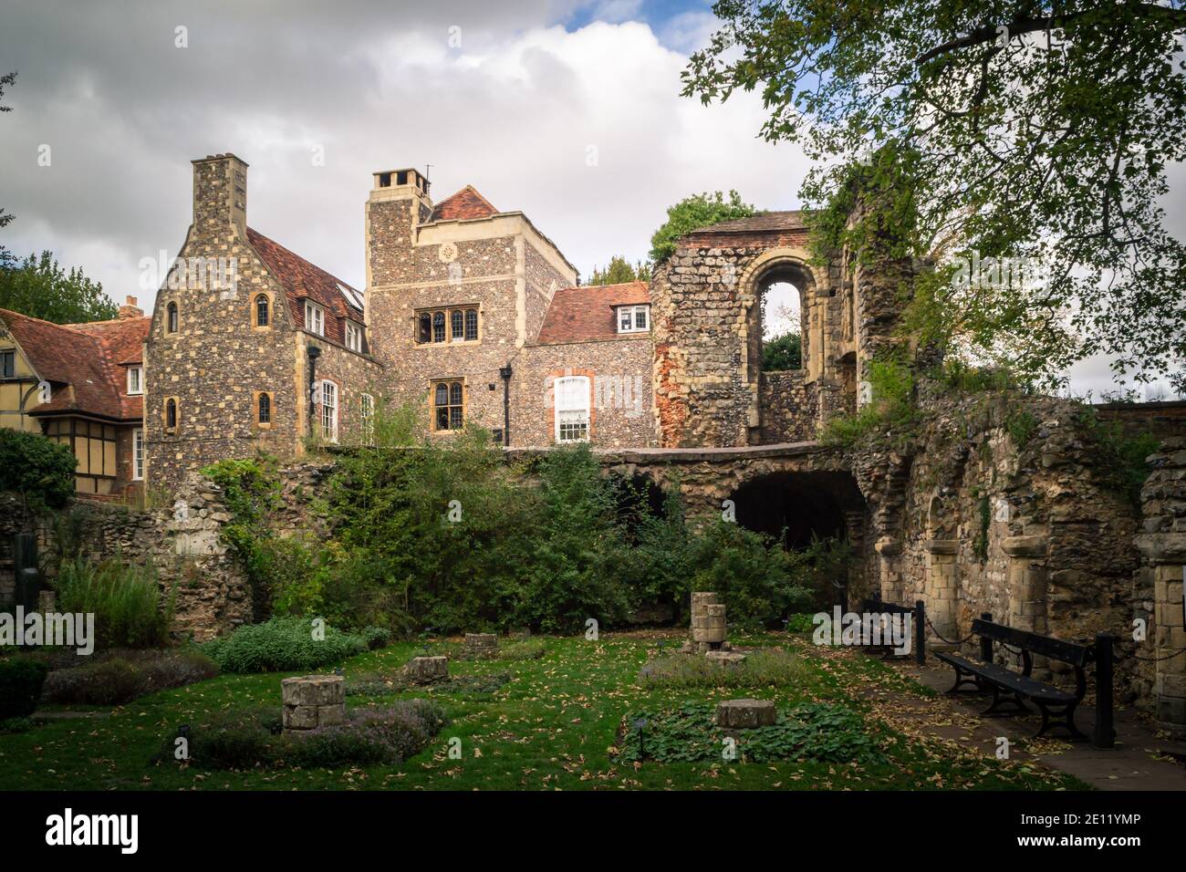
M 824 540 L 842 545 L 848 560 L 821 591 L 818 605 L 847 606 L 848 590 L 863 577 L 866 524 L 865 498 L 850 473 L 772 472 L 745 482 L 731 499 L 739 524 L 780 540 L 789 550 Z

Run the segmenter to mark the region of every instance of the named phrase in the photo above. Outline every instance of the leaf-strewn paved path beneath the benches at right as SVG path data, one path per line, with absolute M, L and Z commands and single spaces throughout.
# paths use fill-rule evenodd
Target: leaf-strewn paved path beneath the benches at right
M 894 661 L 895 669 L 922 685 L 944 693 L 951 687 L 951 668 L 927 658 L 926 667 L 913 662 Z M 942 668 L 940 668 L 942 667 Z M 1116 746 L 1109 750 L 1095 747 L 1090 741 L 1063 741 L 1060 739 L 1032 740 L 1038 731 L 1038 714 L 1012 718 L 982 717 L 988 706 L 987 698 L 959 695 L 942 698 L 961 717 L 950 723 L 940 723 L 935 732 L 946 738 L 982 745 L 986 755 L 996 752 L 997 738 L 1003 736 L 1010 743 L 1022 740 L 1024 750 L 1012 753 L 1013 759 L 1033 758 L 1084 781 L 1099 790 L 1186 790 L 1186 741 L 1161 739 L 1137 718 L 1133 708 L 1117 708 L 1115 713 Z M 919 718 L 935 719 L 931 700 L 920 702 Z M 1095 708 L 1080 706 L 1075 723 L 1085 733 L 1091 733 Z

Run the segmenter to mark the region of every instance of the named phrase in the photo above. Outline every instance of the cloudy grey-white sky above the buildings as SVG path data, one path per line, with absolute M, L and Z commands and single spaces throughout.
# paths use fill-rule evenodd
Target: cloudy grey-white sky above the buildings
M 255 229 L 358 287 L 376 170 L 431 166 L 438 199 L 473 184 L 585 275 L 644 257 L 689 193 L 797 208 L 808 164 L 757 138 L 757 97 L 680 96 L 709 6 L 5 0 L 0 74 L 18 78 L 0 115 L 0 205 L 17 219 L 2 242 L 49 248 L 147 308 L 139 263 L 177 253 L 190 160 L 216 152 L 250 164 Z M 1076 389 L 1107 387 L 1102 362 L 1075 375 Z

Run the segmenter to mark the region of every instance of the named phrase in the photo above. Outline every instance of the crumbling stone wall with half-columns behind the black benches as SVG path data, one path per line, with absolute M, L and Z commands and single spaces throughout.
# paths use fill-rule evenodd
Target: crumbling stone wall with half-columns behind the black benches
M 1146 600 L 1133 580 L 1140 511 L 1103 465 L 1079 407 L 931 388 L 922 405 L 908 460 L 888 448 L 852 456 L 879 540 L 868 568 L 882 597 L 923 599 L 937 643 L 935 634 L 964 639 L 983 612 L 1084 643 L 1111 632 L 1121 637 L 1118 698 L 1147 696 L 1152 682 L 1128 656 L 1131 620 Z M 1019 444 L 1007 425 L 1022 410 L 1035 427 Z M 975 653 L 975 641 L 964 647 Z M 1046 668 L 1040 663 L 1038 674 Z M 1048 669 L 1058 676 L 1067 667 Z

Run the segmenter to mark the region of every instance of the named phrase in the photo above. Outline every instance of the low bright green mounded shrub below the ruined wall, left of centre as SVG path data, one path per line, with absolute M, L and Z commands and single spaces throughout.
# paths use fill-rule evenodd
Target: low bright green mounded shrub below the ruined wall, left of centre
M 248 624 L 203 645 L 203 653 L 227 673 L 317 669 L 365 650 L 366 641 L 362 636 L 332 626 L 326 626 L 325 638 L 318 641 L 313 638 L 312 622 L 296 617 Z

